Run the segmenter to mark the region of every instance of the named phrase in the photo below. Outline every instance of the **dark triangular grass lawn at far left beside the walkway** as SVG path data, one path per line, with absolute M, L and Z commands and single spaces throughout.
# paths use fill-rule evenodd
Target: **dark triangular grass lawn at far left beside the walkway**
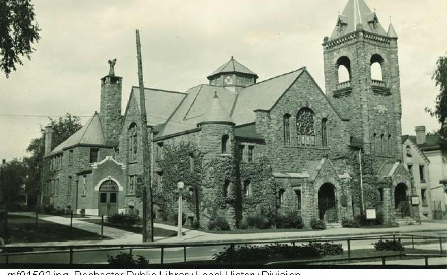
M 70 229 L 69 226 L 57 224 L 34 217 L 8 215 L 9 244 L 14 243 L 39 243 L 39 242 L 63 242 L 66 240 L 93 240 L 103 239 L 101 235 L 78 228 Z M 109 238 L 104 238 L 109 239 Z

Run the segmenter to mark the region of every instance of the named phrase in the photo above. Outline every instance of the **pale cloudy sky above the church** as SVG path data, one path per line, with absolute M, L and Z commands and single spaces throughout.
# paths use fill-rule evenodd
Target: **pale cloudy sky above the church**
M 424 112 L 439 89 L 431 79 L 447 54 L 447 1 L 366 0 L 399 37 L 402 134 L 439 128 Z M 306 66 L 323 89 L 323 38 L 347 0 L 34 0 L 42 39 L 31 60 L 0 74 L 0 159 L 26 155 L 47 116 L 99 111 L 100 78 L 109 59 L 123 77 L 123 111 L 138 85 L 135 29 L 140 30 L 145 87 L 186 91 L 231 56 L 258 81 Z M 4 116 L 16 115 L 16 116 Z M 31 115 L 24 116 L 24 115 Z

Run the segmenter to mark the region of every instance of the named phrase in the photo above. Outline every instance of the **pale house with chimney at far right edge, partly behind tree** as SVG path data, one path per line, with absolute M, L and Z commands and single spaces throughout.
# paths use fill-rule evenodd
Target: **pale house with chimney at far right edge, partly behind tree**
M 416 127 L 416 144 L 430 160 L 428 169 L 430 177 L 431 202 L 434 219 L 446 218 L 447 212 L 447 156 L 442 154 L 437 134 L 427 135 L 424 126 Z

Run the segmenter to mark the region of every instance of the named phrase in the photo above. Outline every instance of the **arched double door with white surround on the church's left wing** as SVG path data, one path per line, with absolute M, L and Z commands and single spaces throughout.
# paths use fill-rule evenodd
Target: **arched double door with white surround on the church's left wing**
M 111 216 L 118 213 L 118 185 L 112 180 L 103 182 L 99 188 L 98 215 Z

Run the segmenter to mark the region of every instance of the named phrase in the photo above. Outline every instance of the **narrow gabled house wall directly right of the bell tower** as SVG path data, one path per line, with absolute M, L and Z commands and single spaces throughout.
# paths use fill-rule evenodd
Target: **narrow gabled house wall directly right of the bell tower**
M 402 136 L 403 163 L 414 178 L 414 187 L 420 197 L 419 213 L 421 217 L 431 219 L 432 203 L 430 195 L 430 161 L 416 144 L 416 137 Z

